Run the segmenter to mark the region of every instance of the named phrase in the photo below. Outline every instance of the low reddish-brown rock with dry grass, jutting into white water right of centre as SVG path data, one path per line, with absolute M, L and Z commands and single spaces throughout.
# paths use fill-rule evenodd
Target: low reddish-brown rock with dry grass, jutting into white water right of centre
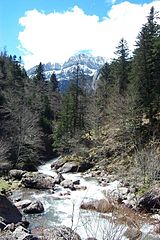
M 114 206 L 106 199 L 100 199 L 82 203 L 80 205 L 80 208 L 86 210 L 94 210 L 101 213 L 108 213 L 113 211 Z

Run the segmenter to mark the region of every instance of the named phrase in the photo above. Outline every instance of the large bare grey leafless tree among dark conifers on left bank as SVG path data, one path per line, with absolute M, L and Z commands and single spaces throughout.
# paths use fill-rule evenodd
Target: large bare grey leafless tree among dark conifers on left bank
M 11 151 L 15 157 L 14 164 L 31 161 L 36 157 L 40 146 L 42 147 L 38 114 L 33 113 L 24 99 L 11 91 L 6 93 L 6 99 L 10 113 L 8 128 L 11 134 Z

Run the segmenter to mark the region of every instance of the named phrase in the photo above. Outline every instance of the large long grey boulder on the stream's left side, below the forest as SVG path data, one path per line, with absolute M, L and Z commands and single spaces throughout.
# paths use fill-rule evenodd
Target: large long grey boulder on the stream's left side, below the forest
M 27 172 L 22 177 L 22 184 L 27 188 L 53 189 L 55 185 L 55 179 L 54 177 L 45 175 L 43 173 Z

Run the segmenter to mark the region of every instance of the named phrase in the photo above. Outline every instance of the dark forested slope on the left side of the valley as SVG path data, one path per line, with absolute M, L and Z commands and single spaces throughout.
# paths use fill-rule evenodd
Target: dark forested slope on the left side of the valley
M 45 81 L 40 63 L 29 79 L 21 59 L 0 56 L 1 168 L 34 166 L 53 157 L 52 121 L 57 118 L 59 94 L 53 74 Z

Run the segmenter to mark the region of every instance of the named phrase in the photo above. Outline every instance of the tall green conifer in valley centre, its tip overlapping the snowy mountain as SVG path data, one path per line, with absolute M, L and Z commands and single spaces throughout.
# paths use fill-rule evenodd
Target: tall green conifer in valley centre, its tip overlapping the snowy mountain
M 62 96 L 58 122 L 55 129 L 55 144 L 57 144 L 58 139 L 71 138 L 77 132 L 85 129 L 86 93 L 82 81 L 84 81 L 84 75 L 77 65 L 71 79 L 71 84 Z

